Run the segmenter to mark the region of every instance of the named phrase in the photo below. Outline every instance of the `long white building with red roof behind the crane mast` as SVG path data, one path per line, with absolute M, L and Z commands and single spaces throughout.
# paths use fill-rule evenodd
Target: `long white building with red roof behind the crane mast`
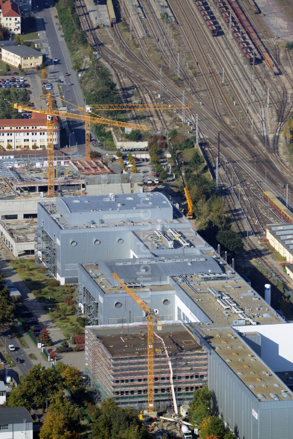
M 60 123 L 54 122 L 54 148 L 60 148 Z M 0 119 L 0 147 L 13 150 L 47 148 L 47 116 L 32 113 L 31 119 Z M 36 148 L 37 147 L 37 148 Z

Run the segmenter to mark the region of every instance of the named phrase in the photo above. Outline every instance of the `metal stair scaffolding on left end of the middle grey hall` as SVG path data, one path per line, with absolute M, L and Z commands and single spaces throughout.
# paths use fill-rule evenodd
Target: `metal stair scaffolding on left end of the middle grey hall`
M 78 284 L 76 288 L 76 317 L 83 315 L 87 317 L 89 325 L 98 325 L 99 323 L 99 305 L 98 298 L 94 298 L 84 284 Z

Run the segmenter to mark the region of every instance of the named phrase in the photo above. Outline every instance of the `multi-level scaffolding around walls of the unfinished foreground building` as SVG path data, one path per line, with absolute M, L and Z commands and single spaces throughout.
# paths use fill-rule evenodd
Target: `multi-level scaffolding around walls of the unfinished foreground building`
M 124 331 L 127 331 L 127 327 L 124 327 Z M 121 332 L 121 337 L 119 337 L 121 349 L 115 339 L 109 335 L 112 349 L 117 353 L 110 352 L 112 349 L 107 348 L 94 327 L 86 327 L 86 373 L 99 390 L 101 400 L 110 397 L 121 406 L 130 405 L 136 410 L 144 410 L 148 403 L 146 349 L 145 352 L 137 349 L 131 354 L 123 353 L 124 345 L 135 346 L 137 342 L 138 345 L 141 345 L 141 342 L 146 343 L 145 325 L 137 324 L 135 327 L 139 327 L 135 334 L 128 333 L 127 335 Z M 133 325 L 129 326 L 129 331 L 135 331 Z M 156 349 L 154 353 L 154 409 L 161 411 L 172 408 L 169 368 L 165 352 L 156 340 L 155 347 L 159 349 Z M 177 403 L 179 405 L 191 401 L 194 390 L 207 383 L 207 354 L 198 347 L 194 350 L 178 350 L 172 353 L 168 351 L 168 353 L 174 374 Z

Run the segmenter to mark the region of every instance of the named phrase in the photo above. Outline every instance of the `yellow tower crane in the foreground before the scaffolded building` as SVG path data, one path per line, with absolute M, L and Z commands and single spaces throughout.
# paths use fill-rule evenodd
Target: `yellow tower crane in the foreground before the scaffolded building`
M 150 307 L 138 297 L 134 291 L 132 291 L 127 285 L 117 276 L 116 273 L 112 274 L 112 277 L 117 281 L 121 288 L 130 295 L 130 297 L 137 303 L 138 306 L 144 311 L 144 315 L 147 318 L 147 334 L 148 334 L 148 412 L 154 411 L 154 323 L 158 329 L 162 327 L 162 324 L 158 320 L 158 316 L 152 312 Z

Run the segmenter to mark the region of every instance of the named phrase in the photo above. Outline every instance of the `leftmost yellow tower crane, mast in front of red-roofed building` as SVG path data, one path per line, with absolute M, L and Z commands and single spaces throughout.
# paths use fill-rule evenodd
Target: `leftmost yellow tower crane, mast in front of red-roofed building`
M 39 108 L 31 108 L 24 104 L 13 104 L 14 108 L 18 108 L 27 112 L 36 112 L 41 114 L 47 115 L 47 160 L 48 160 L 48 191 L 47 191 L 47 197 L 54 197 L 54 123 L 53 123 L 53 116 L 60 116 L 65 117 L 68 119 L 78 119 L 83 121 L 88 121 L 88 123 L 98 123 L 98 124 L 104 124 L 104 125 L 112 125 L 112 126 L 120 126 L 120 127 L 126 127 L 126 128 L 132 128 L 134 130 L 144 130 L 147 131 L 148 127 L 146 125 L 138 125 L 135 123 L 129 123 L 129 122 L 120 122 L 117 120 L 112 119 L 106 119 L 104 117 L 96 117 L 89 116 L 85 114 L 79 114 L 79 113 L 70 113 L 70 112 L 63 112 L 56 108 L 52 108 L 53 100 L 54 100 L 53 94 L 47 94 L 47 108 L 46 110 L 40 110 Z M 84 108 L 82 108 L 84 110 Z

